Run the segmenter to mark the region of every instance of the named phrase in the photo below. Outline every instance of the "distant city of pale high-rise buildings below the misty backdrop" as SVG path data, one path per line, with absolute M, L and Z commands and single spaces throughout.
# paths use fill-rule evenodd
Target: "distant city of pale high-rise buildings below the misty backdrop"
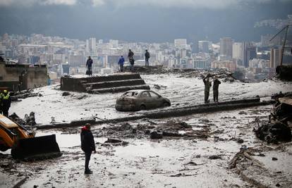
M 51 81 L 63 75 L 85 74 L 88 56 L 93 60 L 94 74 L 110 74 L 118 70 L 118 58 L 134 52 L 135 65 L 145 65 L 145 50 L 150 52 L 150 65 L 169 68 L 217 69 L 235 73 L 240 80 L 261 81 L 274 76 L 281 62 L 281 37 L 262 35 L 260 42 L 236 42 L 222 37 L 219 42 L 208 40 L 145 43 L 116 39 L 90 38 L 86 41 L 40 34 L 8 35 L 0 38 L 0 54 L 7 63 L 47 64 Z M 272 39 L 270 41 L 270 39 Z M 291 60 L 284 52 L 284 60 Z M 126 61 L 127 58 L 126 58 Z M 127 63 L 126 63 L 127 64 Z

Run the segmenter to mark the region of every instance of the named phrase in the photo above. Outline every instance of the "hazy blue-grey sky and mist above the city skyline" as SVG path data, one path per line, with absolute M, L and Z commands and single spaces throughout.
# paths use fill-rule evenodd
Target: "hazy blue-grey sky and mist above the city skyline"
M 255 23 L 287 19 L 291 7 L 292 0 L 0 0 L 0 35 L 260 41 L 278 29 Z

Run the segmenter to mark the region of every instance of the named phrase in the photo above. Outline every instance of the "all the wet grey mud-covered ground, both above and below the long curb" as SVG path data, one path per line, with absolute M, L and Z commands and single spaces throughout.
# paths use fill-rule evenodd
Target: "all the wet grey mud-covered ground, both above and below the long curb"
M 171 100 L 169 108 L 193 106 L 204 101 L 204 84 L 199 77 L 177 73 L 141 76 L 152 90 Z M 278 80 L 221 82 L 219 101 L 257 95 L 269 98 L 280 91 L 291 92 L 292 83 Z M 145 113 L 116 111 L 116 98 L 121 93 L 70 92 L 69 96 L 62 96 L 63 92 L 56 85 L 35 89 L 35 92 L 42 96 L 13 102 L 10 113 L 23 118 L 25 113 L 34 111 L 39 125 L 49 124 L 51 117 L 56 123 L 62 123 L 94 116 L 112 119 Z M 212 91 L 210 96 L 212 101 Z M 292 161 L 292 146 L 285 145 L 281 150 L 281 144 L 267 145 L 253 133 L 253 127 L 257 126 L 255 118 L 267 120 L 272 108 L 271 105 L 258 106 L 93 126 L 97 153 L 92 154 L 90 161 L 92 175 L 84 175 L 80 127 L 37 130 L 39 136 L 56 134 L 63 156 L 22 162 L 13 160 L 10 151 L 2 152 L 0 187 L 17 184 L 22 187 L 255 187 L 244 176 L 246 174 L 251 177 L 258 174 L 255 177 L 262 180 L 260 185 L 276 187 L 279 181 L 288 184 L 292 177 L 291 168 L 287 168 Z M 162 135 L 162 139 L 150 139 L 151 132 Z M 107 139 L 122 142 L 104 143 Z M 229 162 L 242 148 L 257 149 L 250 154 L 262 161 L 264 168 L 253 168 L 253 163 L 243 158 L 238 160 L 242 163 L 236 168 L 229 169 Z M 273 157 L 279 160 L 272 161 Z M 268 170 L 272 173 L 267 173 Z

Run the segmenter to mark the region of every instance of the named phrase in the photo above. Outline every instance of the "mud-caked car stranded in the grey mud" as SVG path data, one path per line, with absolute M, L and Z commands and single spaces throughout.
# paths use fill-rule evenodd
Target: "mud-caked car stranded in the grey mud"
M 130 90 L 116 99 L 117 111 L 140 111 L 171 106 L 169 99 L 150 90 Z

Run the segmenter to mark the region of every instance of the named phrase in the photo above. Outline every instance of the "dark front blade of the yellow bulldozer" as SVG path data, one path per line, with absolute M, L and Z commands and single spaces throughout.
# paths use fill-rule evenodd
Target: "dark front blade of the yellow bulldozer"
M 62 155 L 56 142 L 56 135 L 19 139 L 11 149 L 13 158 L 30 161 L 44 158 L 54 158 Z

